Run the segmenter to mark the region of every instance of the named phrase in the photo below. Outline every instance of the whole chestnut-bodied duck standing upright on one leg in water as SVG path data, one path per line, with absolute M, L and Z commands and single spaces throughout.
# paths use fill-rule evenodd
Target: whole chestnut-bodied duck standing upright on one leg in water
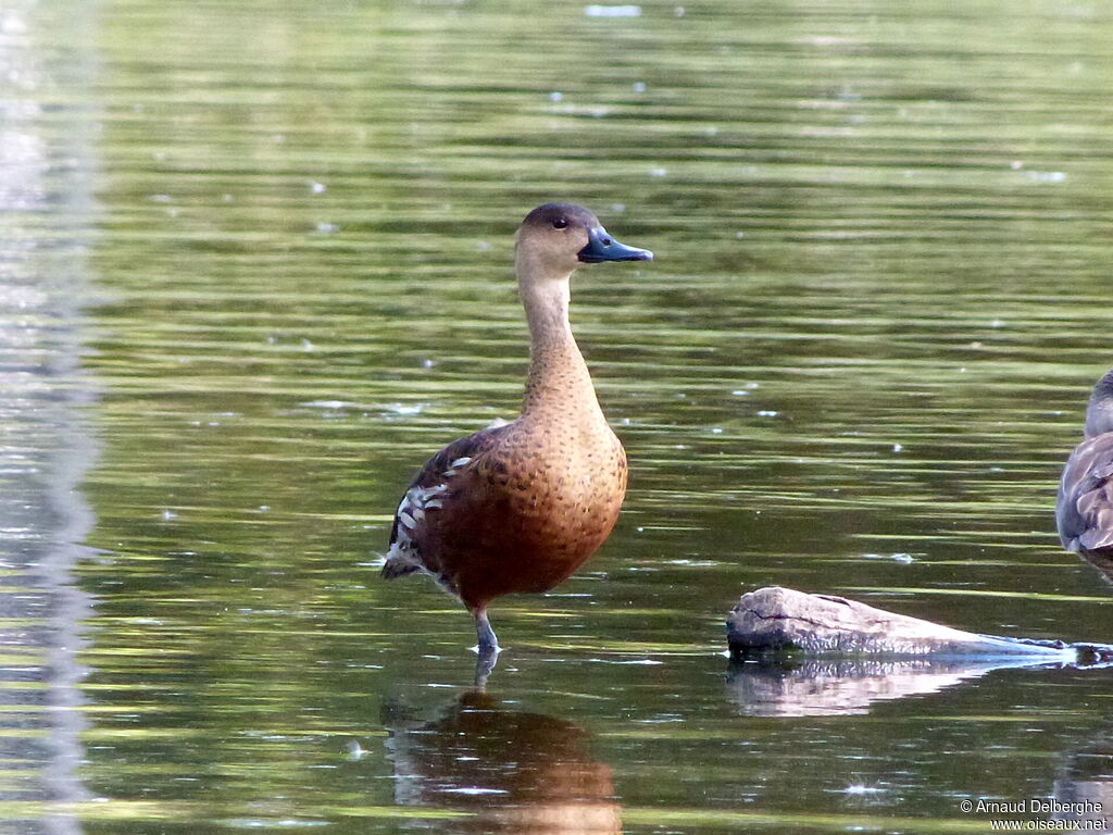
M 382 577 L 424 573 L 459 599 L 475 620 L 481 658 L 501 650 L 487 617 L 492 600 L 549 591 L 614 528 L 627 456 L 572 334 L 570 282 L 584 265 L 652 259 L 582 206 L 530 212 L 514 236 L 530 334 L 521 414 L 442 449 L 398 503 Z

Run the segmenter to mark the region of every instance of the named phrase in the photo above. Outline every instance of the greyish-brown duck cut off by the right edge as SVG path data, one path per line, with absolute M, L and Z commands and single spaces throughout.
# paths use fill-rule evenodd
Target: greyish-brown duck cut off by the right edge
M 1083 441 L 1063 468 L 1055 522 L 1064 548 L 1113 579 L 1113 371 L 1090 396 Z

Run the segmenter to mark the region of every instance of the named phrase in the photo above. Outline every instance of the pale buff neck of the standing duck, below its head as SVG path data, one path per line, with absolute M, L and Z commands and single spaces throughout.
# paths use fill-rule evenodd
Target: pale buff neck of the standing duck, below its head
M 558 410 L 567 418 L 602 420 L 588 365 L 568 320 L 569 275 L 538 275 L 518 258 L 518 287 L 530 326 L 530 373 L 522 415 Z

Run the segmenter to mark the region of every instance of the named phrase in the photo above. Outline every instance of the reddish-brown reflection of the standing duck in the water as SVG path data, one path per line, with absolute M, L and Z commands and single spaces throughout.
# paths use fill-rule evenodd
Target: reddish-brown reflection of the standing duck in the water
M 567 719 L 505 710 L 467 692 L 432 720 L 384 707 L 394 796 L 406 806 L 473 813 L 441 832 L 518 835 L 620 833 L 611 769 Z

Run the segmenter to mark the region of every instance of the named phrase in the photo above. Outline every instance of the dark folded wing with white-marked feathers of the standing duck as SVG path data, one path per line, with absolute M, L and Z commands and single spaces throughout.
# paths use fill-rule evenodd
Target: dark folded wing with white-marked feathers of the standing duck
M 433 455 L 406 488 L 391 527 L 390 551 L 383 577 L 393 579 L 425 568 L 415 546 L 416 532 L 427 511 L 441 510 L 450 495 L 452 479 L 496 453 L 499 443 L 513 424 L 485 429 L 453 441 Z

